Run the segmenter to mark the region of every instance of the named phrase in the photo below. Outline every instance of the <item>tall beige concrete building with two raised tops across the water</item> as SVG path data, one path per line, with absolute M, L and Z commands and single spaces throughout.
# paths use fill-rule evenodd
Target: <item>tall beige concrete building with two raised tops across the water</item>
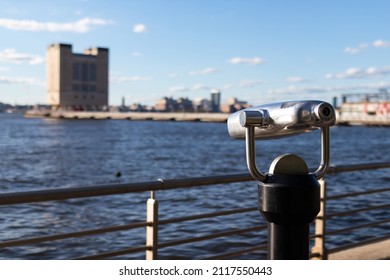
M 108 108 L 108 49 L 72 53 L 72 45 L 52 44 L 46 53 L 47 98 L 53 108 Z

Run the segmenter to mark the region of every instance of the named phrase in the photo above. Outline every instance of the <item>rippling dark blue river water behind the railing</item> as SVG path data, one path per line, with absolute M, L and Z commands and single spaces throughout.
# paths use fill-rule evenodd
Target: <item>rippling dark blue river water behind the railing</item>
M 331 163 L 390 160 L 390 130 L 383 127 L 332 127 Z M 302 156 L 310 167 L 320 160 L 319 131 L 257 143 L 258 165 L 266 171 L 284 153 Z M 118 120 L 25 119 L 0 114 L 0 192 L 106 183 L 141 182 L 247 172 L 245 144 L 229 137 L 226 124 Z M 390 170 L 327 176 L 328 192 L 341 194 L 389 185 Z M 328 212 L 384 204 L 389 194 L 329 202 Z M 57 234 L 145 220 L 148 194 L 31 203 L 0 207 L 0 240 Z M 256 207 L 253 182 L 158 192 L 160 219 L 238 207 Z M 389 210 L 334 218 L 328 229 L 388 218 Z M 161 226 L 160 242 L 264 224 L 259 213 Z M 329 236 L 329 247 L 383 235 L 389 225 Z M 0 249 L 2 259 L 69 259 L 142 245 L 144 229 L 38 245 Z M 140 241 L 141 240 L 141 241 Z M 161 250 L 161 259 L 199 259 L 264 244 L 266 231 L 224 237 Z M 229 250 L 228 250 L 229 249 Z M 243 258 L 263 258 L 249 254 Z M 144 258 L 144 254 L 120 258 Z

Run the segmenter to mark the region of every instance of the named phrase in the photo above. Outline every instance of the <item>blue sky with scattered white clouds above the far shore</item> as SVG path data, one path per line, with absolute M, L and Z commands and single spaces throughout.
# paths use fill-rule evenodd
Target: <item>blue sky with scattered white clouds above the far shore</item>
M 0 1 L 0 102 L 46 103 L 45 53 L 110 49 L 110 105 L 390 88 L 390 1 Z

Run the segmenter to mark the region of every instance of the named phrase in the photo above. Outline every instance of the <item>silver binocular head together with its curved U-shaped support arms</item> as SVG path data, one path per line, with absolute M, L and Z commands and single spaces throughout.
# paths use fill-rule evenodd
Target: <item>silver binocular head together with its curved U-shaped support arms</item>
M 321 129 L 321 163 L 314 172 L 322 178 L 329 166 L 329 127 L 336 122 L 332 105 L 319 100 L 299 100 L 258 105 L 231 114 L 227 121 L 229 135 L 246 140 L 249 172 L 260 182 L 266 174 L 256 165 L 255 140 L 277 139 Z

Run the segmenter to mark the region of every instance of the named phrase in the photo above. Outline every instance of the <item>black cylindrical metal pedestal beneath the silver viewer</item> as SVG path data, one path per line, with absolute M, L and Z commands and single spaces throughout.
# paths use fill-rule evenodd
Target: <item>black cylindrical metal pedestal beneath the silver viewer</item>
M 268 175 L 259 184 L 259 210 L 269 222 L 269 259 L 309 259 L 309 225 L 320 210 L 315 175 Z

